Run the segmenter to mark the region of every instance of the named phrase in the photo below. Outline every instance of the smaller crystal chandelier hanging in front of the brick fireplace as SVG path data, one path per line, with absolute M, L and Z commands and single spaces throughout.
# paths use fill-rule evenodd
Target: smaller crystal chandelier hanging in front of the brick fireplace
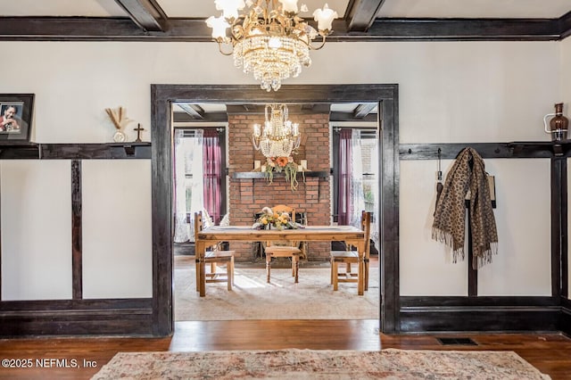
M 285 104 L 266 104 L 266 122 L 253 125 L 253 147 L 265 157 L 289 157 L 300 147 L 299 124 L 287 120 Z

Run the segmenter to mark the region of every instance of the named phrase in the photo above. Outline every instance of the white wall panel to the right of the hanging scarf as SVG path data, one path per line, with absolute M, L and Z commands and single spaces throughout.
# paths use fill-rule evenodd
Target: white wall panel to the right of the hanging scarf
M 498 255 L 478 270 L 478 295 L 550 296 L 550 159 L 486 160 L 485 169 L 496 179 Z

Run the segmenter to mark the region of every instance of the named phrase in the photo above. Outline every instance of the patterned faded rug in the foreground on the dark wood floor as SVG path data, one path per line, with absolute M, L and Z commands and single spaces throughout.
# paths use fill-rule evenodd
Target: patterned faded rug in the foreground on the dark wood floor
M 102 379 L 549 379 L 513 351 L 120 352 Z

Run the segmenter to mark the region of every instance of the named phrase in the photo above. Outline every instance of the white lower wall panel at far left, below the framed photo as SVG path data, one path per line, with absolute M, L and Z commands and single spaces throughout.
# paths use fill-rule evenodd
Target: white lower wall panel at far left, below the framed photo
M 71 298 L 71 163 L 0 161 L 2 300 Z

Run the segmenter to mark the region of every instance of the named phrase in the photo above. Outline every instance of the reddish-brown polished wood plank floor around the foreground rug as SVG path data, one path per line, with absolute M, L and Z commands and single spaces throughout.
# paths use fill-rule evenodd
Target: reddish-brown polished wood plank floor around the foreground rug
M 436 340 L 436 337 L 459 336 L 469 337 L 477 345 L 443 345 Z M 564 335 L 379 335 L 377 320 L 190 321 L 177 323 L 175 334 L 169 338 L 66 337 L 0 340 L 0 359 L 14 359 L 12 364 L 16 364 L 17 359 L 32 360 L 31 368 L 0 368 L 0 378 L 88 379 L 120 351 L 284 348 L 516 351 L 553 380 L 571 379 L 571 339 Z M 22 363 L 24 362 L 20 361 L 18 364 Z M 58 368 L 65 364 L 76 367 L 75 363 L 78 368 Z

